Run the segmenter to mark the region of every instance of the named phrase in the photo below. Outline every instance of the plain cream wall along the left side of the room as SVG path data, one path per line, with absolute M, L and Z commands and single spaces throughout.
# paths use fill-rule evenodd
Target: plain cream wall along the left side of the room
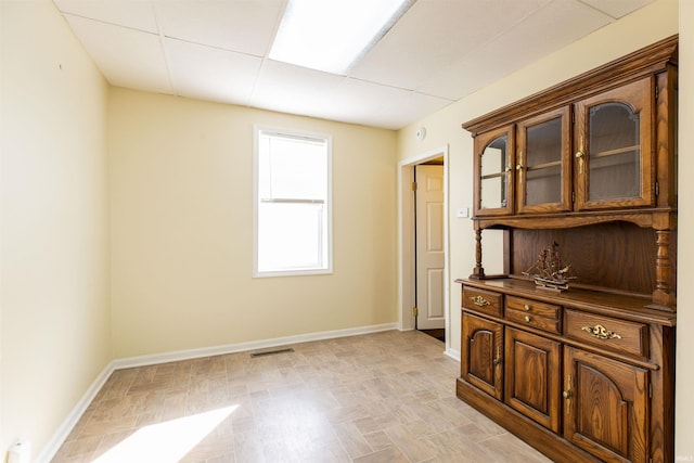
M 111 360 L 107 86 L 48 0 L 1 8 L 0 459 Z

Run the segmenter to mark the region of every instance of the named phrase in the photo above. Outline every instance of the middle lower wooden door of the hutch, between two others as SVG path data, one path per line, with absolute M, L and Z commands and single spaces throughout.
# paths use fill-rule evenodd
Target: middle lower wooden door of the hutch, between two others
M 505 402 L 560 433 L 562 345 L 506 327 L 504 356 Z

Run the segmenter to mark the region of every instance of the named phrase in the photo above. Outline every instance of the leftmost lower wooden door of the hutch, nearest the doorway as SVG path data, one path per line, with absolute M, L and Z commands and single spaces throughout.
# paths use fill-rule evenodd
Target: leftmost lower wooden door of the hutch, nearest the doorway
M 463 313 L 461 375 L 492 397 L 503 398 L 503 325 Z

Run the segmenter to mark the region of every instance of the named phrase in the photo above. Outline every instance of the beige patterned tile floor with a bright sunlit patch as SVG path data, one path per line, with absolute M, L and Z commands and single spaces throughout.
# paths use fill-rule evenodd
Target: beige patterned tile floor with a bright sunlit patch
M 53 462 L 549 462 L 455 397 L 424 333 L 285 347 L 118 370 Z

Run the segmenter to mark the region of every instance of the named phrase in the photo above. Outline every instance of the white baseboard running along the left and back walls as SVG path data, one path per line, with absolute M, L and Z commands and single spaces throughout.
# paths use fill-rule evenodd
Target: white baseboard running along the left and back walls
M 223 346 L 204 347 L 202 349 L 179 350 L 176 352 L 155 353 L 152 356 L 128 357 L 116 359 L 108 363 L 104 370 L 97 376 L 94 382 L 89 386 L 87 393 L 77 402 L 75 408 L 69 412 L 63 424 L 53 434 L 49 443 L 43 448 L 41 453 L 35 460 L 36 463 L 49 463 L 61 446 L 69 436 L 87 407 L 94 400 L 99 390 L 104 386 L 106 380 L 116 370 L 154 365 L 159 363 L 175 362 L 178 360 L 197 359 L 201 357 L 219 356 L 224 353 L 243 352 L 246 350 L 266 349 L 269 347 L 284 346 L 287 344 L 308 343 L 311 340 L 333 339 L 337 337 L 357 336 L 360 334 L 378 333 L 382 331 L 397 330 L 397 323 L 384 323 L 378 325 L 360 326 L 347 330 L 324 331 L 320 333 L 307 333 L 296 336 L 275 337 L 272 339 L 253 340 L 248 343 L 227 344 Z

